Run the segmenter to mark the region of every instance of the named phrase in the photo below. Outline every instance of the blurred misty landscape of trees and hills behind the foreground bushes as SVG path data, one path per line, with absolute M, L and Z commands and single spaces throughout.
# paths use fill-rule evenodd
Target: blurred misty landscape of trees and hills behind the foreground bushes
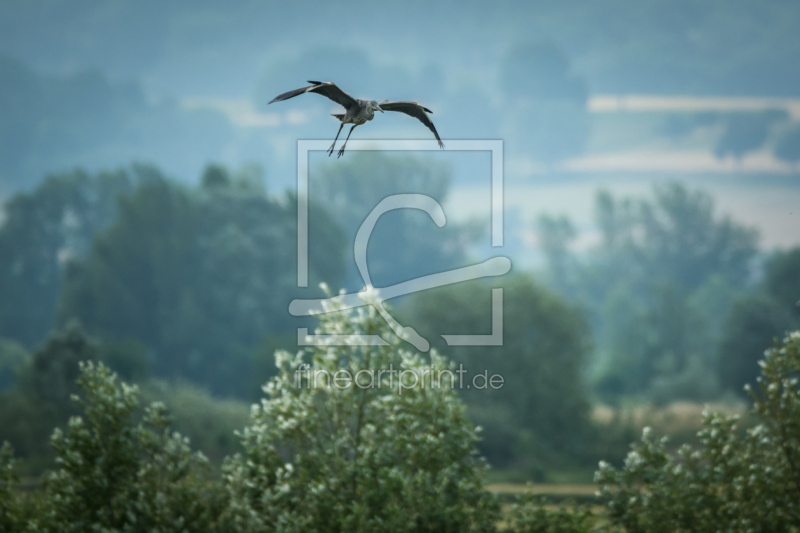
M 798 35 L 790 1 L 3 2 L 0 440 L 46 465 L 97 358 L 228 453 L 275 349 L 313 328 L 288 302 L 360 289 L 355 231 L 400 192 L 448 224 L 383 217 L 376 285 L 512 259 L 505 345 L 437 346 L 506 377 L 464 393 L 501 476 L 578 479 L 644 423 L 741 409 L 800 318 Z M 445 144 L 502 140 L 505 246 L 488 153 L 312 154 L 298 289 L 297 141 L 331 139 L 336 106 L 267 103 L 306 80 L 418 101 Z M 429 137 L 394 113 L 353 133 Z M 489 333 L 489 294 L 395 303 L 436 345 Z

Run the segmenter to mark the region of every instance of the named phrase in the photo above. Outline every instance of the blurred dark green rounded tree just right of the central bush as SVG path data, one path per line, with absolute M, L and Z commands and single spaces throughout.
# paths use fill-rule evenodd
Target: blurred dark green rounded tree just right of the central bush
M 483 283 L 421 293 L 404 304 L 403 323 L 447 350 L 464 365 L 465 376 L 503 377 L 497 389 L 467 387 L 465 381 L 459 390 L 471 419 L 485 428 L 480 448 L 494 467 L 543 480 L 549 470 L 586 466 L 581 461 L 589 404 L 582 371 L 591 347 L 589 326 L 579 309 L 528 276 L 512 276 L 499 286 L 502 346 L 446 347 L 441 337 L 492 333 L 492 291 Z

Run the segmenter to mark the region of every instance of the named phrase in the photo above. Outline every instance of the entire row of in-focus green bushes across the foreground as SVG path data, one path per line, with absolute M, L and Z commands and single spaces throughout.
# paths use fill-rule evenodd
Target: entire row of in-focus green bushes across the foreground
M 137 387 L 81 363 L 82 414 L 53 433 L 57 469 L 42 491 L 16 490 L 11 447 L 0 447 L 0 533 L 496 531 L 501 519 L 511 533 L 800 530 L 800 331 L 766 352 L 756 425 L 707 414 L 697 449 L 673 456 L 645 430 L 621 469 L 601 464 L 603 517 L 531 494 L 502 516 L 455 390 L 399 377 L 452 368 L 443 357 L 404 351 L 372 308 L 323 317 L 318 333 L 328 337 L 308 354 L 278 355 L 269 397 L 253 406 L 244 452 L 225 461 L 221 481 L 170 433 L 163 404 L 136 422 Z M 387 342 L 335 344 L 356 333 Z

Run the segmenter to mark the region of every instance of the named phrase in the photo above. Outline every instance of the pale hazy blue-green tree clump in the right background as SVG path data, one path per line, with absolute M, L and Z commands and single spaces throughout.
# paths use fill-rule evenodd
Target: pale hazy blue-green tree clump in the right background
M 598 193 L 601 242 L 571 251 L 569 221 L 543 217 L 549 279 L 588 312 L 598 357 L 591 375 L 606 400 L 707 400 L 725 316 L 751 280 L 756 232 L 715 213 L 711 197 L 679 183 L 654 198 Z

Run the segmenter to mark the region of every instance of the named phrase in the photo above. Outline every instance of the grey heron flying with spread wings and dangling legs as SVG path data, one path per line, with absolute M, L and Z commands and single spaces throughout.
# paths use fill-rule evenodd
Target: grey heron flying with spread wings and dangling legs
M 389 100 L 381 100 L 380 102 L 376 102 L 375 100 L 361 100 L 360 98 L 353 98 L 337 87 L 336 84 L 329 81 L 309 81 L 308 83 L 311 83 L 312 85 L 303 87 L 302 89 L 295 89 L 294 91 L 283 93 L 273 98 L 272 102 L 282 102 L 304 93 L 317 93 L 344 107 L 344 113 L 333 115 L 334 117 L 338 118 L 342 124 L 339 126 L 339 131 L 336 132 L 336 137 L 333 139 L 333 144 L 331 144 L 331 147 L 328 149 L 328 156 L 333 154 L 333 148 L 336 146 L 336 141 L 339 139 L 339 134 L 342 132 L 342 128 L 344 128 L 345 124 L 352 124 L 353 127 L 350 128 L 350 131 L 347 133 L 347 139 L 344 140 L 344 144 L 339 149 L 339 155 L 337 157 L 342 157 L 342 154 L 344 154 L 344 147 L 347 146 L 347 141 L 350 139 L 350 134 L 353 133 L 353 130 L 356 129 L 356 126 L 360 126 L 367 121 L 372 120 L 372 118 L 375 116 L 375 111 L 380 111 L 381 113 L 384 111 L 399 111 L 416 118 L 433 132 L 433 135 L 439 142 L 439 148 L 444 148 L 444 143 L 442 143 L 442 140 L 439 138 L 439 134 L 436 132 L 436 128 L 433 126 L 433 122 L 431 122 L 431 119 L 429 119 L 428 115 L 426 114 L 433 113 L 433 111 L 427 107 L 423 107 L 416 102 L 390 102 Z M 272 102 L 270 102 L 270 104 Z

